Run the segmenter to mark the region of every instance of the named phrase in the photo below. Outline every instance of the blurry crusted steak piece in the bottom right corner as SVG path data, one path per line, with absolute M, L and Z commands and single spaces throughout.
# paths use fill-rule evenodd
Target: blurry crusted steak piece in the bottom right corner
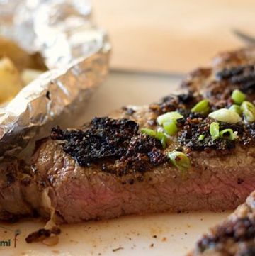
M 212 228 L 188 256 L 255 255 L 255 192 L 222 224 Z

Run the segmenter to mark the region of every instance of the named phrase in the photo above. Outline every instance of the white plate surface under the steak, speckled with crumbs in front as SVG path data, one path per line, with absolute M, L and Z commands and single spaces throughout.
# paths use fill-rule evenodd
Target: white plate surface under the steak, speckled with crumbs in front
M 84 110 L 78 122 L 103 116 L 125 104 L 148 104 L 176 90 L 179 77 L 112 73 L 106 84 Z M 10 240 L 10 247 L 0 246 L 4 256 L 84 256 L 84 255 L 185 255 L 199 235 L 220 222 L 228 213 L 162 213 L 150 216 L 126 216 L 111 221 L 62 226 L 60 243 L 47 247 L 26 244 L 28 233 L 44 223 L 0 223 L 0 241 Z M 14 248 L 15 230 L 21 230 Z M 1 242 L 0 242 L 1 244 Z

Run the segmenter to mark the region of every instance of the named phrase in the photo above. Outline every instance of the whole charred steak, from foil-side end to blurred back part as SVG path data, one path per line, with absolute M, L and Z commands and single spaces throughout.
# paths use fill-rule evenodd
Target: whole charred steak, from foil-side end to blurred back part
M 128 214 L 236 208 L 255 190 L 255 123 L 219 121 L 220 130 L 232 129 L 237 138 L 214 140 L 212 118 L 191 108 L 204 98 L 210 101 L 210 111 L 229 108 L 234 89 L 254 101 L 253 55 L 253 48 L 220 55 L 211 68 L 188 75 L 182 83 L 185 94 L 121 108 L 79 129 L 52 128 L 50 137 L 37 143 L 27 186 L 18 160 L 11 171 L 16 182 L 9 187 L 6 169 L 2 172 L 0 217 L 36 211 L 56 223 L 78 223 Z M 176 121 L 176 135 L 159 138 L 142 131 L 161 129 L 157 134 L 162 134 L 157 118 L 171 111 L 183 116 Z M 198 139 L 201 134 L 203 140 Z M 178 167 L 179 157 L 169 159 L 169 152 L 176 151 L 188 156 L 188 168 Z M 15 190 L 13 196 L 10 189 Z M 11 207 L 15 201 L 19 204 Z

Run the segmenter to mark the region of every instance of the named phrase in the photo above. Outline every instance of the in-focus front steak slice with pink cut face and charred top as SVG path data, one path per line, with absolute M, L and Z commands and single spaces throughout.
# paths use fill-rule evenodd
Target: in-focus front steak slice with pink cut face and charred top
M 212 140 L 212 121 L 189 111 L 199 99 L 191 94 L 172 96 L 152 106 L 124 108 L 111 118 L 94 118 L 80 130 L 54 128 L 35 152 L 33 168 L 41 189 L 50 188 L 57 221 L 222 211 L 242 204 L 255 189 L 254 139 L 243 123 L 220 123 L 238 130 L 239 138 Z M 176 109 L 185 118 L 166 148 L 140 133 L 142 127 L 156 129 L 159 112 Z M 198 140 L 201 129 L 203 142 Z M 177 169 L 166 157 L 175 149 L 190 158 L 188 170 Z

